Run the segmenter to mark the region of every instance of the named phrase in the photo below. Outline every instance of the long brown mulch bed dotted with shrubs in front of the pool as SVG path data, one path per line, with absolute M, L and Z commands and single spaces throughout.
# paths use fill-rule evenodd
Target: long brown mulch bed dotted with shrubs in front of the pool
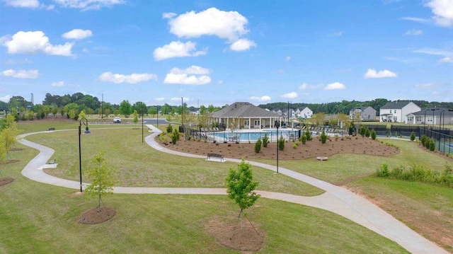
M 167 140 L 171 140 L 166 137 Z M 156 138 L 161 142 L 159 137 Z M 268 147 L 263 147 L 257 154 L 255 144 L 251 143 L 213 143 L 191 139 L 186 141 L 182 137 L 176 144 L 164 144 L 162 146 L 175 151 L 181 151 L 190 154 L 207 155 L 208 153 L 222 154 L 226 158 L 277 158 L 277 144 L 270 143 Z M 375 156 L 390 156 L 399 153 L 399 149 L 372 140 L 366 137 L 331 137 L 326 144 L 322 144 L 318 139 L 312 139 L 306 144 L 299 142 L 299 145 L 293 147 L 296 142 L 285 143 L 285 149 L 278 151 L 278 158 L 283 160 L 316 158 L 317 156 L 333 156 L 334 154 L 368 154 Z

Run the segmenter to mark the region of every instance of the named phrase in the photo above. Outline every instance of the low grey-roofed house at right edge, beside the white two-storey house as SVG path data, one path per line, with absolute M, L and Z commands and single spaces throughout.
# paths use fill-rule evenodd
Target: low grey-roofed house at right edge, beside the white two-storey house
M 427 108 L 407 115 L 408 123 L 414 125 L 453 125 L 453 110 L 447 108 Z

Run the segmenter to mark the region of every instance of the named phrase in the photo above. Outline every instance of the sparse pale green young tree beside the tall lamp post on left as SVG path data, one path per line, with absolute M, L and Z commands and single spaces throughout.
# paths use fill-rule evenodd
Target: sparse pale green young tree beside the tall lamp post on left
M 101 202 L 105 195 L 113 193 L 113 186 L 117 183 L 115 171 L 108 168 L 105 152 L 101 151 L 93 158 L 93 168 L 88 171 L 88 180 L 91 185 L 85 189 L 85 194 L 91 197 L 98 197 L 98 212 L 101 212 Z

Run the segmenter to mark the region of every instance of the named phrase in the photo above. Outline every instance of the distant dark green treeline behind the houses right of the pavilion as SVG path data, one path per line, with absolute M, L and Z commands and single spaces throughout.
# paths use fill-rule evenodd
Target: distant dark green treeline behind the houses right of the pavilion
M 316 114 L 317 112 L 323 112 L 324 114 L 338 114 L 343 113 L 349 115 L 349 111 L 352 108 L 356 107 L 372 107 L 377 110 L 377 114 L 379 115 L 379 108 L 381 108 L 385 103 L 388 103 L 391 100 L 377 98 L 374 100 L 368 101 L 357 101 L 357 100 L 342 100 L 341 102 L 336 103 L 268 103 L 268 104 L 261 104 L 258 105 L 260 108 L 267 108 L 268 110 L 275 110 L 280 109 L 282 111 L 288 110 L 292 108 L 296 110 L 299 108 L 300 110 L 304 109 L 305 107 L 313 110 Z M 438 103 L 436 101 L 426 101 L 426 100 L 398 100 L 398 101 L 412 101 L 413 103 L 417 104 L 420 108 L 452 108 L 453 103 Z

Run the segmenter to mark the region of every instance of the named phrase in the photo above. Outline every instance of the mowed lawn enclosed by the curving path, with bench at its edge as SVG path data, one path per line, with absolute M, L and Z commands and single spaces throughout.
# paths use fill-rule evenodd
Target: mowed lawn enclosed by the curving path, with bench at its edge
M 81 135 L 82 178 L 85 181 L 91 160 L 100 151 L 105 151 L 108 165 L 116 169 L 117 185 L 127 187 L 224 187 L 229 168 L 237 166 L 237 163 L 216 163 L 156 151 L 142 143 L 142 129 L 92 129 L 92 132 Z M 79 180 L 79 134 L 76 130 L 33 134 L 26 139 L 55 149 L 52 158 L 57 159 L 58 166 L 47 169 L 47 173 Z M 265 168 L 254 166 L 253 174 L 260 183 L 258 190 L 304 196 L 324 192 Z

